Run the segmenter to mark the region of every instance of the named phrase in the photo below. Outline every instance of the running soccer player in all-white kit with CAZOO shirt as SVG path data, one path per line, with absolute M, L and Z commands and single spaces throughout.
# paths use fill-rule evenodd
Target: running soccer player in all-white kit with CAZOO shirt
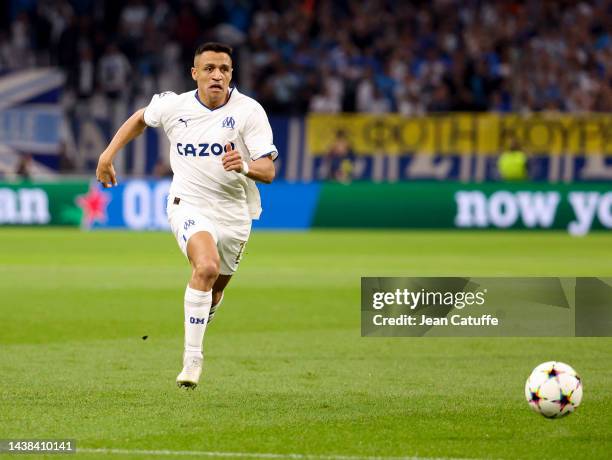
M 192 271 L 185 290 L 185 349 L 179 387 L 195 387 L 202 373 L 204 332 L 238 268 L 251 220 L 261 201 L 255 181 L 274 180 L 278 156 L 264 109 L 230 87 L 232 49 L 205 43 L 195 52 L 195 91 L 164 92 L 136 111 L 100 155 L 96 177 L 117 185 L 113 158 L 147 126 L 170 140 L 174 173 L 168 221 Z

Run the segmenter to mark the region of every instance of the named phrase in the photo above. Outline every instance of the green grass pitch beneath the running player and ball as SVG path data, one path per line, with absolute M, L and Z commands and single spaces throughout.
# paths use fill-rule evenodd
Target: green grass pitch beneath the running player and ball
M 359 286 L 611 276 L 611 260 L 605 233 L 256 232 L 185 391 L 189 267 L 169 233 L 2 229 L 0 438 L 72 438 L 107 459 L 610 458 L 612 339 L 361 338 Z M 585 388 L 560 420 L 523 396 L 552 359 Z

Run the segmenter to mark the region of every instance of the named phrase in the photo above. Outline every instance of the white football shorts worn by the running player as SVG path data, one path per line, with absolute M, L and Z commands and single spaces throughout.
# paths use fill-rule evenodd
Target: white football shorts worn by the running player
M 208 232 L 217 243 L 217 251 L 221 259 L 219 273 L 233 275 L 236 272 L 248 237 L 247 239 L 238 237 L 231 228 L 216 223 L 213 218 L 184 202 L 177 205 L 169 203 L 167 210 L 170 228 L 185 257 L 187 257 L 189 238 L 198 232 Z M 244 234 L 244 229 L 242 230 L 240 233 Z

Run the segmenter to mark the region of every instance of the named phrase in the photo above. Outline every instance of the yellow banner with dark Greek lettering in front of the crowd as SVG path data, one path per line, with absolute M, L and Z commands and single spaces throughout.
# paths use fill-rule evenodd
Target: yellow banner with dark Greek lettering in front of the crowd
M 343 131 L 357 155 L 498 154 L 513 142 L 531 153 L 612 154 L 612 115 L 608 114 L 311 114 L 308 151 L 325 155 Z

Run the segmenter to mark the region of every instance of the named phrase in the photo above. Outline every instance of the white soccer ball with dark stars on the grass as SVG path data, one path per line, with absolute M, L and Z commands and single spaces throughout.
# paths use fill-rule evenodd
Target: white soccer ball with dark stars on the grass
M 529 406 L 544 417 L 563 417 L 582 401 L 582 380 L 570 366 L 548 361 L 536 367 L 525 383 Z

